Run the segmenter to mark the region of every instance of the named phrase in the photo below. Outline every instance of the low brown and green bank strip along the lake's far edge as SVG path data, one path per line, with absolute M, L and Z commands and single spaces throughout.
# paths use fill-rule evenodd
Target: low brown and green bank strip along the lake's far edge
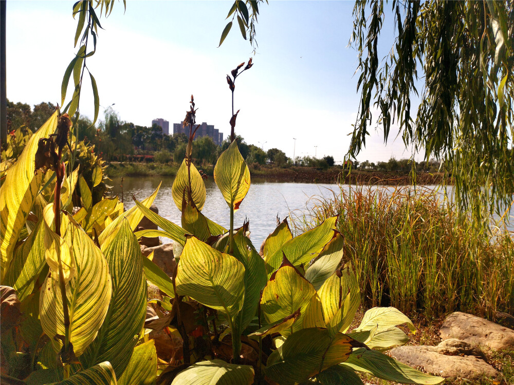
M 142 162 L 111 162 L 108 163 L 106 174 L 112 178 L 120 177 L 174 177 L 179 165 L 175 163 L 142 163 Z M 200 167 L 203 173 L 213 176 L 214 167 Z M 387 185 L 404 186 L 412 184 L 411 174 L 401 171 L 350 170 L 342 167 L 320 169 L 308 166 L 291 166 L 288 168 L 272 165 L 250 167 L 254 178 L 273 182 L 298 183 L 341 183 L 354 185 Z M 343 179 L 344 178 L 344 179 Z M 416 183 L 419 185 L 437 185 L 443 182 L 442 172 L 417 171 Z M 447 181 L 448 182 L 448 181 Z M 450 181 L 451 182 L 451 181 Z

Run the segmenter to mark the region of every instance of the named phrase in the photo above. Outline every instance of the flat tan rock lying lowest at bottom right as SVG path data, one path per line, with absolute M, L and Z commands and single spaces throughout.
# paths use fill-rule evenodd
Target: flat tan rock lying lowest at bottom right
M 390 356 L 415 369 L 440 377 L 460 377 L 477 380 L 484 377 L 498 379 L 501 374 L 491 365 L 474 356 L 446 356 L 439 347 L 402 346 L 390 351 Z M 446 348 L 440 348 L 442 351 Z

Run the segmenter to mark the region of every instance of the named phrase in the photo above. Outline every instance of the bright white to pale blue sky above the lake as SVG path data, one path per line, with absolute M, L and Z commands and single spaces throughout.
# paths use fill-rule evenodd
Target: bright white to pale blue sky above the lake
M 68 1 L 9 1 L 7 4 L 7 98 L 30 105 L 61 100 L 64 71 L 74 48 L 77 21 Z M 348 46 L 351 1 L 280 1 L 261 4 L 255 55 L 236 22 L 218 48 L 232 2 L 116 2 L 97 51 L 86 64 L 95 76 L 103 109 L 121 120 L 150 126 L 153 119 L 183 120 L 191 94 L 196 121 L 230 134 L 231 94 L 226 75 L 253 57 L 236 80 L 236 133 L 264 150 L 286 155 L 332 155 L 341 162 L 350 144 L 359 105 L 357 52 Z M 391 36 L 392 20 L 383 36 Z M 389 29 L 388 29 L 389 28 Z M 72 81 L 70 81 L 72 83 Z M 93 118 L 93 94 L 84 82 L 80 111 Z M 67 100 L 71 98 L 71 84 Z M 102 116 L 99 117 L 101 119 Z M 296 138 L 296 141 L 293 140 Z M 410 157 L 391 129 L 387 146 L 380 130 L 366 140 L 359 161 Z M 422 158 L 417 156 L 416 159 Z

